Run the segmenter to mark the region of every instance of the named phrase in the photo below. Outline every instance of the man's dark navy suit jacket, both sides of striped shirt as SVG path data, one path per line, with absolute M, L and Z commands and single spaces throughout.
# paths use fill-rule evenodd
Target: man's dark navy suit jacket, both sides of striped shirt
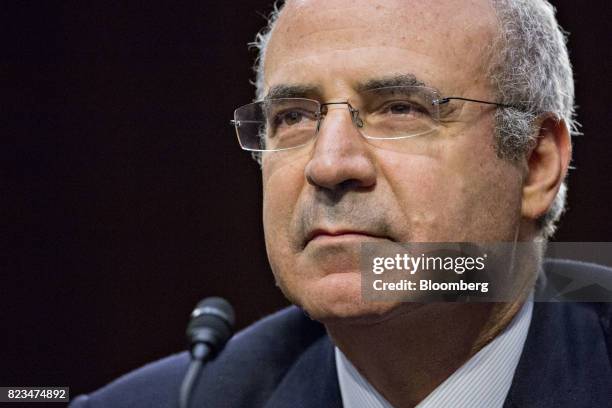
M 589 264 L 555 265 L 612 276 Z M 611 320 L 612 303 L 536 302 L 505 407 L 612 407 Z M 167 357 L 71 407 L 175 407 L 188 362 L 186 352 Z M 297 307 L 284 309 L 228 343 L 202 372 L 191 406 L 341 407 L 333 344 L 321 324 Z

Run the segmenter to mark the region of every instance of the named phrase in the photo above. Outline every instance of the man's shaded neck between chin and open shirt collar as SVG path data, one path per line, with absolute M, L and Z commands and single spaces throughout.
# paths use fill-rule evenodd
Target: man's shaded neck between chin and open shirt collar
M 334 343 L 393 406 L 414 407 L 512 320 L 516 303 L 403 304 L 373 323 L 326 323 Z

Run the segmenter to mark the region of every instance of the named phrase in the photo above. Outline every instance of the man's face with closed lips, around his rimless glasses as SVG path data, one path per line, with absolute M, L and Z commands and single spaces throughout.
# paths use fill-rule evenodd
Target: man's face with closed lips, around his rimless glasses
M 405 76 L 443 96 L 494 100 L 494 34 L 486 1 L 289 2 L 264 93 L 297 86 L 310 90 L 294 96 L 346 101 L 368 81 Z M 285 295 L 323 321 L 380 318 L 400 305 L 361 301 L 359 243 L 512 241 L 522 172 L 496 156 L 493 119 L 490 107 L 466 108 L 435 133 L 381 148 L 332 105 L 310 144 L 265 153 L 266 246 Z

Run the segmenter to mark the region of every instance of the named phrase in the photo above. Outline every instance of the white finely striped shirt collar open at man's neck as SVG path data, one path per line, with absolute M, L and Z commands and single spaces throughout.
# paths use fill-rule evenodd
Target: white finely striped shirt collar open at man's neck
M 532 311 L 530 298 L 495 339 L 434 389 L 417 408 L 501 408 L 523 351 Z M 392 408 L 337 347 L 336 369 L 344 408 Z

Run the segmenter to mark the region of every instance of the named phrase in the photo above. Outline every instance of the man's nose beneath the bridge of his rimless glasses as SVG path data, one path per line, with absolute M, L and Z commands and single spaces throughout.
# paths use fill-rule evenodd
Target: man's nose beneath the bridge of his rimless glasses
M 328 109 L 311 154 L 305 176 L 315 187 L 337 192 L 368 188 L 376 183 L 370 147 L 346 106 Z

